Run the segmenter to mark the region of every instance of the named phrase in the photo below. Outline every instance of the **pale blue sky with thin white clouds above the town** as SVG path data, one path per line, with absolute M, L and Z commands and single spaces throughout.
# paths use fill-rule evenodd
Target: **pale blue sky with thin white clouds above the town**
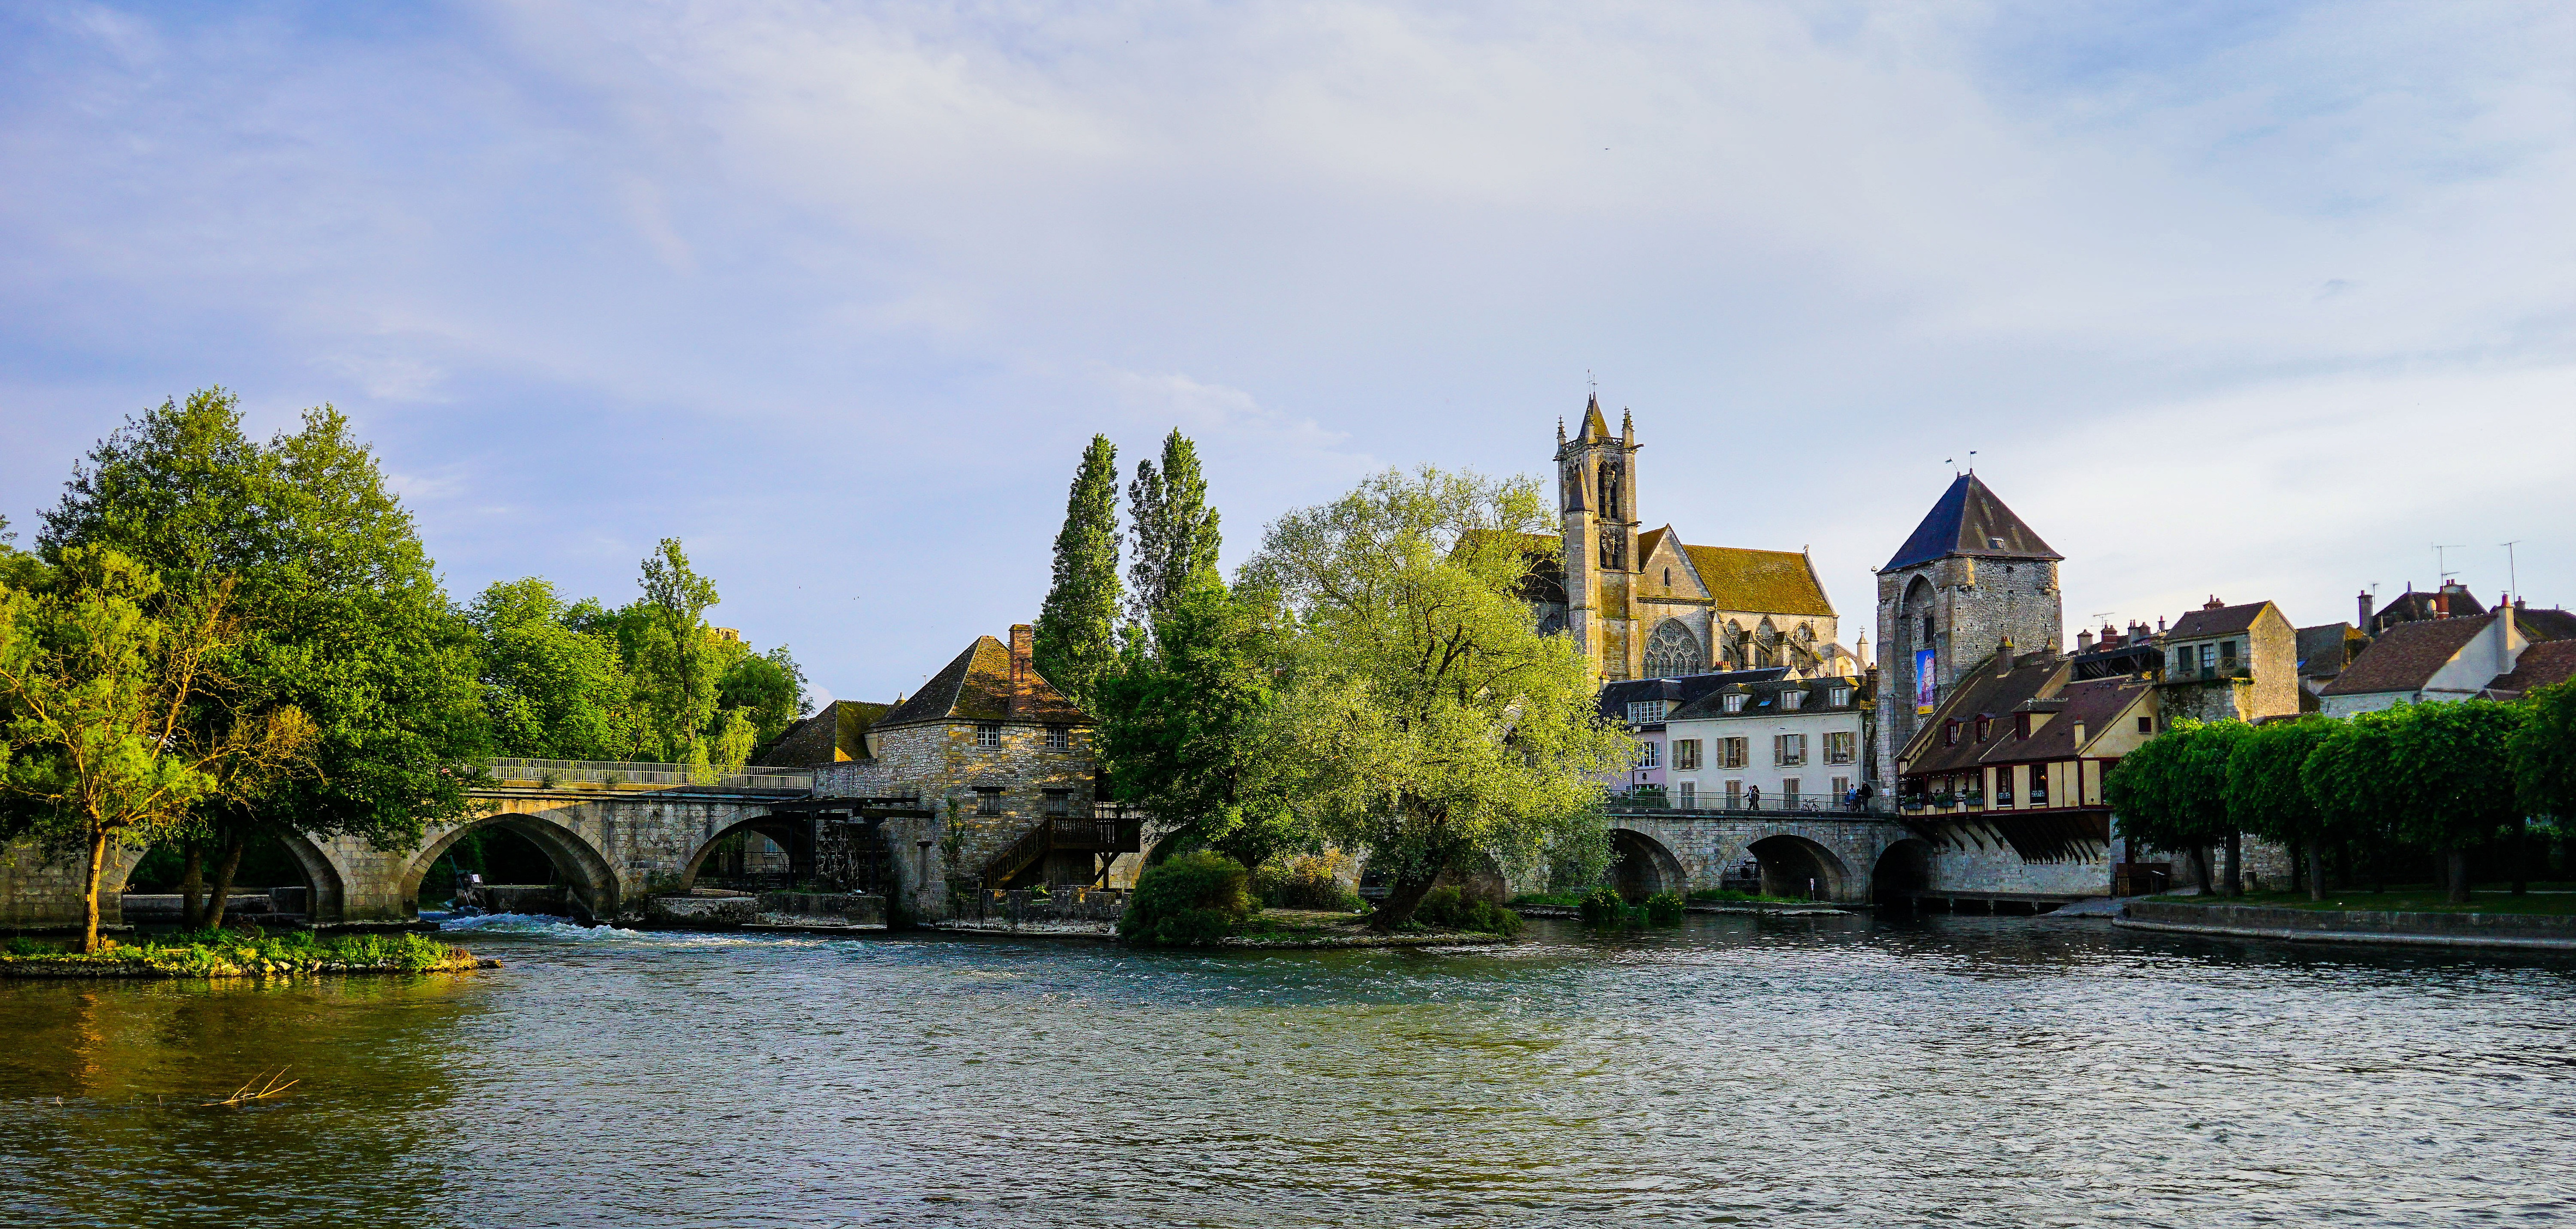
M 330 402 L 459 600 L 677 536 L 891 698 L 1036 616 L 1092 433 L 1195 438 L 1231 567 L 1597 386 L 1646 526 L 1844 639 L 1971 464 L 2069 631 L 2437 544 L 2566 605 L 2571 219 L 2566 3 L 13 0 L 0 515 Z

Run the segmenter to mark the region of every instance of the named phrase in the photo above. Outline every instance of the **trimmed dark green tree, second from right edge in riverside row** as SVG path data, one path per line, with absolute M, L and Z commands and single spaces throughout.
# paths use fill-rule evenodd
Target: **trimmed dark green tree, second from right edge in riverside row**
M 2496 701 L 2409 703 L 2391 721 L 2393 788 L 2406 799 L 2401 832 L 2442 850 L 2447 897 L 2468 902 L 2468 850 L 2514 822 L 2506 742 L 2519 709 Z

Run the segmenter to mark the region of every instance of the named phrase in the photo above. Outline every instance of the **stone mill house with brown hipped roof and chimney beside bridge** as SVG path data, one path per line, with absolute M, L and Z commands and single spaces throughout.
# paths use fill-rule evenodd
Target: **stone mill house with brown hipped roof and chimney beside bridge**
M 809 760 L 817 799 L 904 799 L 933 812 L 884 824 L 920 917 L 943 915 L 948 889 L 1097 884 L 1136 850 L 1131 822 L 1097 817 L 1092 719 L 1038 675 L 1025 624 L 1010 629 L 1010 644 L 976 636 L 855 737 L 837 714 L 809 724 L 824 716 L 835 757 Z M 781 739 L 791 742 L 814 747 L 822 737 Z

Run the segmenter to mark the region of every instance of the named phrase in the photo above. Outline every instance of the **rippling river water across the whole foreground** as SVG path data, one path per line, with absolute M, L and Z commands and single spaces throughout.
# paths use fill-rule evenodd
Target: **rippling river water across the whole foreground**
M 2576 961 L 2048 917 L 1242 956 L 479 922 L 500 971 L 0 982 L 0 1221 L 2576 1219 Z

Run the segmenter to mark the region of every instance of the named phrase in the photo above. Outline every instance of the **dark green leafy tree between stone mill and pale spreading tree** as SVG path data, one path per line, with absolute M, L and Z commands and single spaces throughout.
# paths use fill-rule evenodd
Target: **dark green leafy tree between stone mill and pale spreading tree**
M 1275 626 L 1203 569 L 1097 680 L 1092 745 L 1118 801 L 1162 832 L 1157 850 L 1211 848 L 1257 871 L 1306 845 L 1280 773 Z

